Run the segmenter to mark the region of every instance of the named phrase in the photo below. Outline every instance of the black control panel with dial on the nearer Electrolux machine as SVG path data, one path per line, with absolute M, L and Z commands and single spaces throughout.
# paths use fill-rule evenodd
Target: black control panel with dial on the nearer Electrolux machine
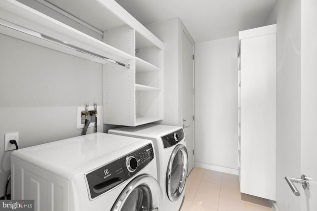
M 153 159 L 153 146 L 148 144 L 103 167 L 85 173 L 90 200 L 131 178 Z

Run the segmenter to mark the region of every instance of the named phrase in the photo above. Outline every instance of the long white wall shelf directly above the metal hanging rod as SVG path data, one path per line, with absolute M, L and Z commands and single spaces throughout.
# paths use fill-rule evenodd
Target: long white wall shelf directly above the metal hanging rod
M 69 45 L 116 61 L 133 58 L 111 45 L 15 0 L 0 2 L 0 33 L 102 64 L 108 62 L 74 50 Z M 58 44 L 57 41 L 67 43 L 68 46 Z

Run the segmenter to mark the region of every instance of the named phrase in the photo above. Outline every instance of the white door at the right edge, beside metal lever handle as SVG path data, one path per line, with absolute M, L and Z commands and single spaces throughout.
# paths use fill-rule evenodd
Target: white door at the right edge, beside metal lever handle
M 317 211 L 317 1 L 302 1 L 301 174 L 310 177 L 310 190 L 301 185 L 301 211 Z M 300 175 L 298 175 L 300 176 Z

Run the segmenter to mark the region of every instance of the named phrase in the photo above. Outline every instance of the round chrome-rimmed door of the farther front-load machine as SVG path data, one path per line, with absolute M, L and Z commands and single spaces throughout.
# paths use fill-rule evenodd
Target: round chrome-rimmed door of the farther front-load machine
M 188 171 L 188 155 L 184 145 L 178 144 L 169 159 L 166 173 L 166 192 L 174 202 L 184 191 Z

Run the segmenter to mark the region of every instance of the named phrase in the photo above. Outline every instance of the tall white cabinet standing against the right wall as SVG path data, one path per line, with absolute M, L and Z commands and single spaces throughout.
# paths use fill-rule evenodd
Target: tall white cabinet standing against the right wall
M 276 199 L 276 24 L 239 32 L 242 193 Z

